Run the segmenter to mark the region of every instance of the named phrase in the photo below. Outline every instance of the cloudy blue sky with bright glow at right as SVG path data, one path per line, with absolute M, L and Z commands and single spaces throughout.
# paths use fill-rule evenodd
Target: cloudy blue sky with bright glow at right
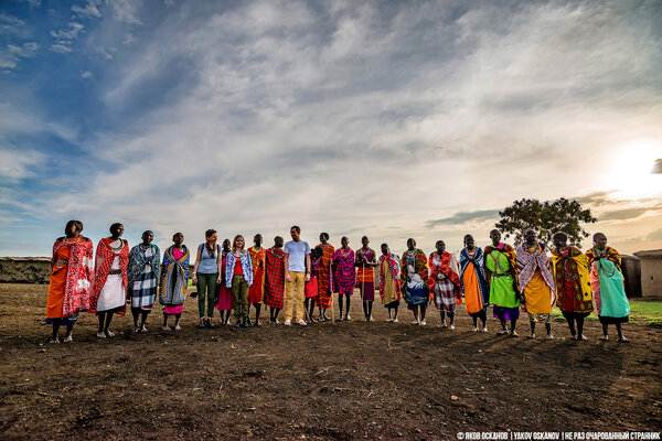
M 458 250 L 523 197 L 662 248 L 661 122 L 659 0 L 3 0 L 0 256 L 68 219 Z

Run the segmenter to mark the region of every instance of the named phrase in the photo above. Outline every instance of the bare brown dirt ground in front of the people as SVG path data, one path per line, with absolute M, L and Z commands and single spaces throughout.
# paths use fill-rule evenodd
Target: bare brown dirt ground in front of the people
M 84 314 L 73 344 L 50 345 L 46 286 L 0 284 L 1 439 L 456 439 L 458 431 L 647 431 L 662 428 L 662 329 L 624 326 L 629 344 L 412 326 L 408 310 L 364 323 L 130 333 L 97 340 Z M 217 320 L 217 318 L 216 318 Z

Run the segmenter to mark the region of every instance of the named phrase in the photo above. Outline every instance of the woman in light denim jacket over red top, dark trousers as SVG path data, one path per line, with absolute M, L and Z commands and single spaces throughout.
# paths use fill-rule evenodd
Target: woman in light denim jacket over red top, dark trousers
M 248 327 L 248 289 L 253 284 L 250 254 L 244 249 L 244 236 L 236 235 L 225 263 L 225 287 L 232 288 L 235 326 Z

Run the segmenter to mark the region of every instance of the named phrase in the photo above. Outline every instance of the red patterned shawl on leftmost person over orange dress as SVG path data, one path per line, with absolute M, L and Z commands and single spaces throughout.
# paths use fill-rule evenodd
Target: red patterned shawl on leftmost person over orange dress
M 64 287 L 64 300 L 62 301 L 62 316 L 66 318 L 76 311 L 85 311 L 89 308 L 94 246 L 87 237 L 81 237 L 78 240 L 68 240 L 62 237 L 55 240 L 51 268 L 55 266 L 57 250 L 62 247 L 70 247 L 66 284 Z

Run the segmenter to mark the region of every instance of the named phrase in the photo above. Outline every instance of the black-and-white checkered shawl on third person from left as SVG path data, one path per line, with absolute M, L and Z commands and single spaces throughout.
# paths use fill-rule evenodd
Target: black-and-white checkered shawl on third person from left
M 156 245 L 150 245 L 150 248 L 153 251 L 151 257 L 147 257 L 147 249 L 142 249 L 140 245 L 129 252 L 127 299 L 131 299 L 134 308 L 150 306 L 157 300 L 161 255 Z M 136 282 L 140 284 L 138 290 L 135 289 Z

